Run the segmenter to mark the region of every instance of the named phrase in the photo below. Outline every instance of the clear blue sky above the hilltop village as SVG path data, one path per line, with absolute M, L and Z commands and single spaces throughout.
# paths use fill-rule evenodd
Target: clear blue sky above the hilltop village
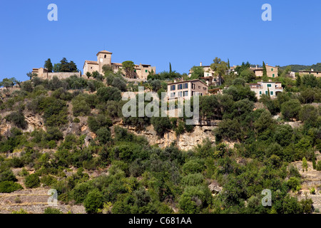
M 48 21 L 47 6 L 58 6 Z M 272 21 L 262 21 L 263 4 Z M 32 68 L 66 57 L 83 68 L 106 48 L 112 62 L 187 73 L 218 56 L 231 65 L 321 62 L 321 1 L 28 0 L 1 1 L 0 80 L 27 80 Z

